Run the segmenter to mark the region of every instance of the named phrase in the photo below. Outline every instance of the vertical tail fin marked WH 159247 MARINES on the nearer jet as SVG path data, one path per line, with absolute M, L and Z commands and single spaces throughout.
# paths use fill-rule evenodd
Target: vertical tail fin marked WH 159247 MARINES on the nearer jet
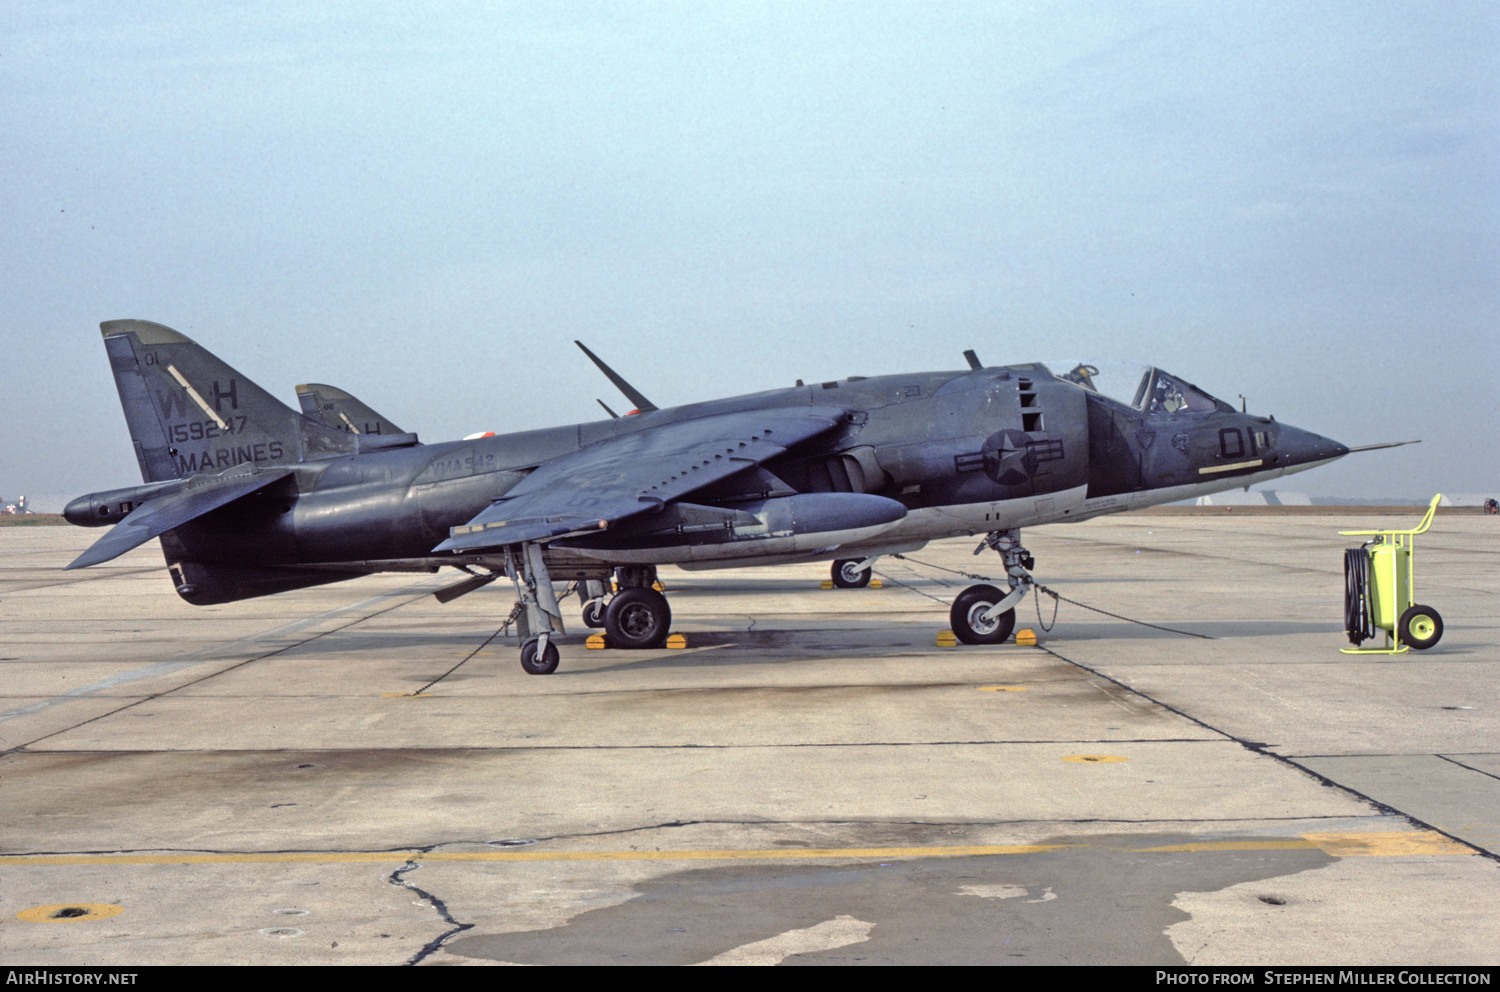
M 110 320 L 99 330 L 146 482 L 358 450 L 171 327 Z

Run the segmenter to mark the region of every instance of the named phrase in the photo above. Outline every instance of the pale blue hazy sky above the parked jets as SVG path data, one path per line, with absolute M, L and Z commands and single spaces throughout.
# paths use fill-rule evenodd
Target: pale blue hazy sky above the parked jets
M 1138 359 L 1500 491 L 1500 5 L 0 5 L 0 494 L 140 482 L 98 324 L 426 441 Z

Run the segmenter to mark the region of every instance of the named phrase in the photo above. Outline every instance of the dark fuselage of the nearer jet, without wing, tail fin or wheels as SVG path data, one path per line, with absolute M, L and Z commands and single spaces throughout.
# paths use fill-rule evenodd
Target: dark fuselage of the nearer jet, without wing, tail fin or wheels
M 550 558 L 572 561 L 584 575 L 627 563 L 705 567 L 849 557 L 1188 498 L 1342 453 L 1334 441 L 1218 401 L 1198 411 L 1152 413 L 1044 366 L 1017 365 L 848 378 L 567 428 L 291 462 L 291 476 L 162 534 L 162 545 L 190 602 L 346 578 L 378 563 L 480 561 L 432 549 L 537 465 L 626 432 L 795 407 L 840 407 L 848 422 L 768 461 L 764 471 L 710 486 L 663 513 L 556 540 Z M 122 492 L 129 491 L 99 495 L 108 504 Z M 884 504 L 840 497 L 798 503 L 812 494 L 882 497 L 904 515 L 891 519 Z M 92 515 L 90 500 L 98 503 L 75 500 L 69 519 L 118 519 Z M 832 521 L 826 539 L 816 530 L 794 533 L 788 521 L 795 512 L 804 521 Z M 838 527 L 840 519 L 849 525 Z M 210 570 L 194 566 L 236 575 L 210 581 Z M 266 573 L 255 579 L 258 570 Z M 567 575 L 564 569 L 560 578 Z

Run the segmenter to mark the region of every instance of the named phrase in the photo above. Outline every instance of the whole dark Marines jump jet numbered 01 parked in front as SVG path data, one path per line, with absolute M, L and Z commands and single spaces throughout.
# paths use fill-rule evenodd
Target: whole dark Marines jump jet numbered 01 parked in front
M 657 566 L 832 560 L 836 581 L 858 585 L 879 555 L 966 534 L 999 552 L 1008 588 L 966 588 L 950 620 L 964 642 L 998 644 L 1034 585 L 1023 527 L 1248 486 L 1350 450 L 1162 369 L 986 368 L 974 353 L 968 371 L 418 444 L 298 414 L 170 327 L 100 330 L 146 483 L 68 504 L 74 524 L 112 525 L 69 569 L 160 537 L 195 605 L 452 566 L 468 578 L 438 593 L 447 602 L 504 575 L 531 674 L 558 665 L 554 581 L 580 584 L 585 621 L 610 645 L 650 648 L 670 623 Z

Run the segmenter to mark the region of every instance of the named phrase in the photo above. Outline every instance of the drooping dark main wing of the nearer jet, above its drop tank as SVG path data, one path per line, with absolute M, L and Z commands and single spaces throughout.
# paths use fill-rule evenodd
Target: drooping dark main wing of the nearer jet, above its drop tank
M 748 410 L 620 434 L 543 464 L 434 551 L 606 530 L 834 431 L 846 417 L 831 407 Z

